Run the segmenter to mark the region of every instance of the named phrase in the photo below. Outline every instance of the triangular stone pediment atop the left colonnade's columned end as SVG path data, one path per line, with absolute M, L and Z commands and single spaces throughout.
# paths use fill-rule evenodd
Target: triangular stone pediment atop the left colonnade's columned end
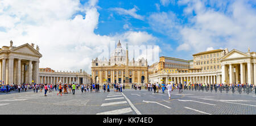
M 16 48 L 12 49 L 11 51 L 42 56 L 42 54 L 40 54 L 38 51 L 36 51 L 29 44 L 20 45 L 19 47 L 16 47 Z

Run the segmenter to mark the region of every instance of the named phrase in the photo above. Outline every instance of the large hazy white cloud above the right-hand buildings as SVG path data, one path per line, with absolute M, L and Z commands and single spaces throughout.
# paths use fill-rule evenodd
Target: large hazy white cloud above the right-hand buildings
M 256 10 L 246 1 L 235 1 L 225 5 L 227 12 L 205 9 L 204 2 L 193 1 L 188 8 L 196 12 L 191 23 L 181 30 L 182 40 L 192 49 L 227 47 L 245 51 L 254 47 L 256 39 Z M 216 4 L 220 5 L 219 2 Z M 222 5 L 222 4 L 221 4 Z M 190 9 L 189 9 L 190 10 Z M 225 9 L 223 9 L 225 10 Z

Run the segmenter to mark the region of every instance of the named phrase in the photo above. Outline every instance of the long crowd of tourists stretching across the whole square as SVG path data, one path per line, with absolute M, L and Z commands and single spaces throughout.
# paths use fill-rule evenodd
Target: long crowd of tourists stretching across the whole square
M 86 92 L 100 92 L 100 89 L 104 91 L 104 93 L 107 91 L 110 91 L 110 87 L 113 87 L 114 92 L 122 92 L 123 89 L 125 89 L 125 86 L 123 83 L 105 83 L 104 85 L 100 86 L 98 83 L 87 83 L 87 84 L 23 84 L 23 85 L 0 85 L 1 87 L 6 88 L 6 93 L 9 93 L 11 90 L 18 91 L 18 93 L 23 92 L 23 91 L 34 91 L 34 93 L 42 93 L 44 91 L 45 96 L 47 96 L 47 92 L 51 93 L 52 91 L 57 91 L 57 95 L 63 95 L 63 94 L 75 94 L 76 90 L 81 90 L 82 93 Z M 214 85 L 209 85 L 209 84 L 204 84 L 204 83 L 146 83 L 146 84 L 137 84 L 137 83 L 132 83 L 131 89 L 134 90 L 142 90 L 142 87 L 148 91 L 154 90 L 154 93 L 159 93 L 159 90 L 162 90 L 162 93 L 164 93 L 165 90 L 171 89 L 171 90 L 179 90 L 179 93 L 182 93 L 184 90 L 192 90 L 192 91 L 232 91 L 232 93 L 235 93 L 236 91 L 238 93 L 251 93 L 255 91 L 256 94 L 256 86 L 253 84 L 214 84 Z

